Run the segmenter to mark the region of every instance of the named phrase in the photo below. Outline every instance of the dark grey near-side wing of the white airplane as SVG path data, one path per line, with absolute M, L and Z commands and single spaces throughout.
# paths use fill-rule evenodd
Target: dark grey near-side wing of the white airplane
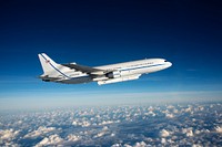
M 105 73 L 108 73 L 108 71 L 105 71 L 105 70 L 100 70 L 100 69 L 90 67 L 90 66 L 80 65 L 80 64 L 68 63 L 68 64 L 62 64 L 62 65 L 70 67 L 70 69 L 74 69 L 82 73 L 88 73 L 88 74 L 92 74 L 92 75 L 104 75 Z

